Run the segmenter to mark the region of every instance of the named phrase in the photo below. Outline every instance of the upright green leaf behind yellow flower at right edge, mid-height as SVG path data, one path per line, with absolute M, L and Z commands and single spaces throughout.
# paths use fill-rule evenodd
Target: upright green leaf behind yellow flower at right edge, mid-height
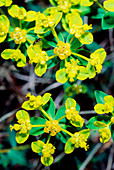
M 102 92 L 102 91 L 99 91 L 99 90 L 96 90 L 95 91 L 95 97 L 96 97 L 96 100 L 97 100 L 97 103 L 101 103 L 101 104 L 104 104 L 104 97 L 105 96 L 108 96 L 106 93 Z

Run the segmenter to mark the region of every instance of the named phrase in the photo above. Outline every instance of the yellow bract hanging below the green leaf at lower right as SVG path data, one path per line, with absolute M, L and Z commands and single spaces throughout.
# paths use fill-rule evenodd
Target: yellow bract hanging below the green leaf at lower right
M 108 127 L 99 130 L 100 142 L 105 143 L 111 138 L 111 131 Z

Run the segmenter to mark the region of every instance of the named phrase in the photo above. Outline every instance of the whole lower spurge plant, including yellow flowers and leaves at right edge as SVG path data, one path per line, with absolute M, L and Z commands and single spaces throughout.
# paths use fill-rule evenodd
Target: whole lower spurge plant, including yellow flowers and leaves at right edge
M 114 107 L 114 98 L 112 96 L 108 96 L 101 91 L 95 91 L 98 104 L 95 105 L 94 109 L 98 114 L 100 111 L 100 114 L 104 115 L 92 117 L 86 123 L 80 115 L 80 106 L 73 98 L 67 98 L 65 105 L 60 107 L 55 113 L 55 105 L 50 96 L 51 94 L 49 93 L 45 93 L 43 97 L 34 96 L 30 93 L 27 94 L 29 100 L 22 104 L 22 108 L 26 110 L 39 110 L 43 118 L 30 118 L 27 111 L 20 110 L 16 113 L 18 123 L 14 124 L 14 126 L 10 125 L 11 131 L 12 129 L 18 131 L 16 141 L 19 144 L 24 143 L 29 135 L 39 136 L 44 133 L 48 134 L 46 143 L 38 140 L 31 144 L 33 152 L 41 156 L 42 164 L 50 166 L 53 163 L 52 154 L 55 152 L 55 146 L 50 143 L 51 136 L 55 137 L 55 139 L 59 138 L 65 143 L 66 154 L 73 152 L 75 148 L 79 147 L 87 151 L 89 148 L 87 139 L 89 138 L 91 129 L 99 131 L 100 142 L 102 143 L 107 142 L 111 138 L 111 125 L 114 124 L 114 109 L 112 109 Z M 104 110 L 104 107 L 97 107 L 96 109 L 96 106 L 104 106 L 107 102 L 111 107 L 108 112 L 107 109 Z M 103 109 L 102 113 L 101 109 Z M 110 114 L 107 116 L 107 113 Z M 69 120 L 69 123 L 67 123 L 67 120 Z M 75 127 L 75 132 L 71 133 L 67 126 Z M 85 129 L 85 126 L 88 129 Z M 83 130 L 79 130 L 82 127 Z

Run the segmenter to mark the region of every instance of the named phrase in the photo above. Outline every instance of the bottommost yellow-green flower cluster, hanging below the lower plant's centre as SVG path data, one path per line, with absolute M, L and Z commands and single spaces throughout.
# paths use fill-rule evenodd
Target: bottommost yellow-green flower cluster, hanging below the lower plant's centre
M 32 142 L 32 150 L 36 153 L 42 153 L 41 162 L 45 166 L 50 166 L 53 163 L 53 156 L 55 147 L 51 143 L 44 143 L 41 140 Z

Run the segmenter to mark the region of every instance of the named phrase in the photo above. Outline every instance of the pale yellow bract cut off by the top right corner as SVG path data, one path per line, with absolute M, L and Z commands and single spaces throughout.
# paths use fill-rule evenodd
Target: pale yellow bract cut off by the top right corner
M 106 1 L 104 1 L 103 6 L 108 11 L 114 12 L 114 0 L 106 0 Z

